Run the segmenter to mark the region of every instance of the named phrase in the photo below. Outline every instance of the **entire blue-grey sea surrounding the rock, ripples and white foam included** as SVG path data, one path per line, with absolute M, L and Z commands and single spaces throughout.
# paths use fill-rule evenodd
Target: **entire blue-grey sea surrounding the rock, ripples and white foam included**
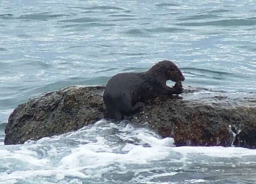
M 256 96 L 256 1 L 2 0 L 0 184 L 255 184 L 256 150 L 175 147 L 131 122 L 3 145 L 9 114 L 29 98 L 163 59 L 185 88 Z

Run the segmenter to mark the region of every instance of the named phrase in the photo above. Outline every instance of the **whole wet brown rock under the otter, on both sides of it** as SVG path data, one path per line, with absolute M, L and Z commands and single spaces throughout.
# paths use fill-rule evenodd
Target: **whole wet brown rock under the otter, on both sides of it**
M 9 116 L 4 143 L 22 144 L 64 134 L 104 118 L 103 90 L 103 86 L 68 87 L 18 105 Z M 173 137 L 176 145 L 256 148 L 255 98 L 186 98 L 194 92 L 197 90 L 185 90 L 185 98 L 149 99 L 129 119 L 162 137 Z

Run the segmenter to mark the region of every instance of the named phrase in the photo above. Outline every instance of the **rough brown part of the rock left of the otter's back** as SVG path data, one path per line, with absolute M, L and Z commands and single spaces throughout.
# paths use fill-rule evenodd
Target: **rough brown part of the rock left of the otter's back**
M 67 87 L 20 104 L 10 114 L 4 144 L 60 135 L 104 118 L 104 87 Z

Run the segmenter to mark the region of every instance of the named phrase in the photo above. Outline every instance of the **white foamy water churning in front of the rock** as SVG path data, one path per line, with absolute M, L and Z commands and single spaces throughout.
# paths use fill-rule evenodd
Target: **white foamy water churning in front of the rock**
M 172 138 L 128 121 L 101 120 L 61 136 L 0 146 L 0 183 L 210 183 L 207 175 L 256 167 L 255 159 L 255 150 L 175 147 Z

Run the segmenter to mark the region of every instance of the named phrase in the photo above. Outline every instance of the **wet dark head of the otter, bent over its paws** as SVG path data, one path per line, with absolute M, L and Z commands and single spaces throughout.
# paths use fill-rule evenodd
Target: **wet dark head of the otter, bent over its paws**
M 180 68 L 177 65 L 175 65 L 174 62 L 164 60 L 158 62 L 158 64 L 161 64 L 162 67 L 164 67 L 163 70 L 165 72 L 165 77 L 167 80 L 172 80 L 176 83 L 185 80 L 185 77 L 180 71 Z

